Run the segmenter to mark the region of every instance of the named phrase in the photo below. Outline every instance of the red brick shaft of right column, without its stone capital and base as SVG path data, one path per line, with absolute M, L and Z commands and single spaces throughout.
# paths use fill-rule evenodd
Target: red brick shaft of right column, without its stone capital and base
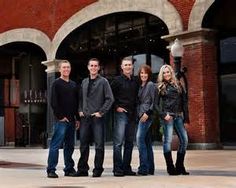
M 185 47 L 183 62 L 189 85 L 190 142 L 219 142 L 216 47 L 199 43 Z

